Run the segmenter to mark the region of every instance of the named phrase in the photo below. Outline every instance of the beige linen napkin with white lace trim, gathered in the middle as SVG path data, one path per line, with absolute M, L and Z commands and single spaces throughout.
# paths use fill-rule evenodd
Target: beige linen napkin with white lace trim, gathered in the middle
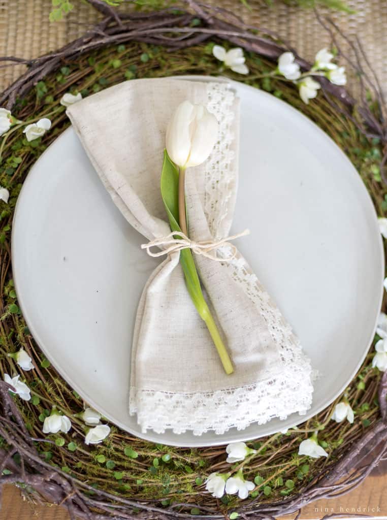
M 203 103 L 219 122 L 210 158 L 186 173 L 189 236 L 219 240 L 229 233 L 238 181 L 239 100 L 227 82 L 132 80 L 67 110 L 112 200 L 148 240 L 170 233 L 160 174 L 166 126 L 185 99 Z M 218 255 L 228 255 L 227 245 Z M 142 431 L 222 434 L 305 413 L 313 393 L 309 359 L 246 260 L 239 252 L 231 262 L 194 256 L 235 371 L 225 374 L 188 294 L 179 252 L 170 254 L 137 309 L 130 413 Z

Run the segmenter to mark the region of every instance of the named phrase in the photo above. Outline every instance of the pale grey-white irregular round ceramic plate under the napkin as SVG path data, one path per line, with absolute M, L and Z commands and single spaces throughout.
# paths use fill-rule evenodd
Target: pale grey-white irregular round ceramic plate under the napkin
M 312 417 L 354 377 L 381 305 L 377 216 L 351 162 L 299 111 L 231 83 L 241 100 L 231 234 L 250 228 L 238 248 L 319 372 L 306 415 L 223 435 L 141 433 L 128 414 L 131 345 L 140 294 L 158 259 L 140 249 L 145 239 L 115 207 L 72 128 L 31 168 L 15 211 L 14 279 L 35 340 L 88 404 L 124 430 L 162 444 L 247 440 Z

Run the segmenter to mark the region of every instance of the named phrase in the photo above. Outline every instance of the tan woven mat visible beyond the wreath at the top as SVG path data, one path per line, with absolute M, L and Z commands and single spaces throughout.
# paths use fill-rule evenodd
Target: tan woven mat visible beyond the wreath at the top
M 220 0 L 212 3 L 231 8 L 249 23 L 276 31 L 292 44 L 304 58 L 312 59 L 318 49 L 329 45 L 329 34 L 321 28 L 313 10 L 276 4 L 261 5 L 249 0 L 250 12 L 239 0 Z M 80 0 L 75 8 L 59 22 L 49 22 L 51 0 L 0 0 L 0 56 L 32 58 L 55 50 L 83 34 L 98 19 L 95 10 Z M 349 37 L 358 35 L 379 76 L 383 89 L 387 84 L 387 1 L 348 0 L 356 14 L 330 11 L 330 16 Z M 322 11 L 328 12 L 328 11 Z M 342 47 L 344 52 L 348 45 Z M 0 90 L 15 80 L 22 66 L 0 69 Z

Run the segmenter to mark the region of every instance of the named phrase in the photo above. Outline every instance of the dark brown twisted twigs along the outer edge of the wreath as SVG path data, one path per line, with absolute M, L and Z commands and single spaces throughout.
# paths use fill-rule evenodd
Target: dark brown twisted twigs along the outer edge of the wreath
M 55 53 L 34 60 L 21 58 L 0 58 L 4 66 L 11 63 L 24 63 L 28 66 L 14 84 L 0 95 L 0 106 L 12 108 L 16 100 L 27 94 L 36 83 L 51 72 L 56 71 L 67 60 L 78 58 L 83 53 L 130 41 L 157 44 L 167 49 L 184 49 L 216 37 L 232 42 L 253 53 L 276 60 L 290 46 L 279 36 L 265 29 L 254 28 L 243 23 L 236 15 L 219 7 L 188 0 L 178 14 L 171 9 L 141 13 L 119 14 L 114 8 L 100 0 L 89 0 L 104 19 L 89 30 L 83 37 L 64 46 Z M 189 27 L 192 20 L 199 18 L 200 27 Z M 321 23 L 331 31 L 332 39 L 340 31 L 329 20 Z M 345 37 L 345 36 L 344 36 Z M 334 40 L 337 42 L 337 40 Z M 338 42 L 337 42 L 338 46 Z M 364 53 L 359 42 L 356 46 L 356 61 L 346 58 L 350 66 L 361 72 L 362 96 L 356 101 L 342 87 L 319 79 L 329 103 L 345 118 L 356 124 L 359 131 L 367 137 L 378 137 L 385 147 L 387 131 L 383 117 L 383 97 L 375 78 L 365 74 L 360 59 Z M 290 49 L 296 55 L 294 49 Z M 297 57 L 304 70 L 310 64 Z M 366 100 L 366 89 L 370 88 L 378 109 L 371 110 Z M 360 117 L 359 117 L 360 115 Z M 386 161 L 386 157 L 383 158 Z M 384 164 L 383 162 L 383 164 Z M 323 469 L 304 488 L 289 498 L 273 504 L 260 504 L 259 497 L 242 503 L 234 511 L 243 518 L 274 518 L 279 515 L 300 511 L 307 503 L 317 499 L 341 496 L 363 482 L 378 462 L 387 457 L 387 418 L 386 418 L 387 375 L 384 374 L 379 389 L 381 420 L 367 430 L 367 434 L 351 445 L 341 460 L 330 469 Z M 0 436 L 5 439 L 7 450 L 0 450 L 0 469 L 8 469 L 10 475 L 0 477 L 0 487 L 7 483 L 22 482 L 36 490 L 43 500 L 66 506 L 72 518 L 107 520 L 108 518 L 197 518 L 189 512 L 193 506 L 199 509 L 202 518 L 222 518 L 221 508 L 217 510 L 195 503 L 175 503 L 166 508 L 158 508 L 150 501 L 128 500 L 89 486 L 81 480 L 72 478 L 46 462 L 35 448 L 36 442 L 51 442 L 47 439 L 34 439 L 25 427 L 15 400 L 9 394 L 9 386 L 0 382 Z M 364 459 L 373 452 L 372 461 Z M 20 462 L 13 457 L 18 454 Z M 93 495 L 88 495 L 93 493 Z M 156 501 L 155 501 L 156 502 Z

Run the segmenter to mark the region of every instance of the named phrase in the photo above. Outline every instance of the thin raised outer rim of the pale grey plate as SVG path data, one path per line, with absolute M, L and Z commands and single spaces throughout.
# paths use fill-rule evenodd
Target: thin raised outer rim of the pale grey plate
M 219 80 L 227 81 L 227 82 L 230 83 L 231 86 L 232 85 L 238 85 L 239 88 L 242 87 L 242 88 L 246 88 L 247 90 L 251 90 L 256 95 L 261 95 L 264 98 L 269 98 L 270 101 L 278 102 L 279 105 L 286 106 L 286 109 L 296 113 L 296 115 L 298 117 L 301 117 L 301 119 L 303 119 L 304 122 L 307 122 L 307 124 L 309 124 L 309 126 L 314 128 L 314 131 L 317 130 L 317 132 L 321 136 L 324 136 L 324 139 L 329 141 L 330 146 L 333 145 L 334 147 L 336 147 L 337 151 L 340 152 L 340 154 L 342 155 L 343 159 L 347 163 L 349 163 L 349 165 L 352 168 L 353 174 L 354 174 L 354 179 L 355 179 L 354 180 L 354 184 L 357 185 L 356 190 L 357 191 L 358 190 L 360 190 L 360 191 L 363 190 L 364 198 L 365 198 L 365 200 L 367 200 L 367 204 L 368 204 L 369 209 L 370 209 L 370 214 L 372 213 L 373 217 L 374 217 L 373 220 L 374 220 L 374 224 L 375 224 L 375 229 L 379 232 L 378 215 L 377 215 L 377 212 L 376 212 L 375 205 L 373 204 L 371 196 L 370 196 L 366 186 L 364 185 L 363 180 L 360 177 L 358 171 L 356 170 L 354 164 L 349 159 L 349 157 L 347 157 L 347 155 L 344 153 L 344 151 L 336 144 L 336 142 L 325 131 L 323 131 L 316 123 L 314 123 L 311 119 L 309 119 L 301 111 L 297 110 L 296 108 L 294 108 L 292 105 L 290 105 L 286 101 L 283 101 L 282 99 L 279 99 L 279 98 L 275 98 L 273 95 L 271 95 L 271 94 L 269 94 L 267 92 L 264 92 L 261 89 L 253 87 L 251 85 L 247 85 L 247 84 L 245 84 L 243 82 L 237 82 L 235 80 L 230 80 L 230 79 L 228 79 L 228 78 L 226 78 L 224 76 L 217 77 L 217 76 L 200 76 L 200 75 L 182 75 L 182 76 L 172 76 L 172 77 L 177 77 L 177 79 L 193 80 L 193 81 L 205 81 L 205 82 L 210 82 L 210 81 L 214 81 L 214 80 L 215 81 L 219 81 Z M 36 169 L 36 165 L 38 164 L 38 162 L 41 160 L 41 158 L 44 157 L 45 154 L 47 154 L 47 152 L 50 150 L 52 145 L 57 143 L 58 140 L 60 140 L 63 136 L 65 136 L 67 134 L 70 134 L 71 132 L 74 132 L 74 129 L 70 125 L 68 128 L 66 128 L 66 130 L 64 130 L 46 148 L 46 150 L 44 150 L 44 152 L 40 155 L 40 157 L 33 163 L 33 165 L 31 166 L 31 168 L 30 168 L 30 170 L 29 170 L 29 172 L 27 174 L 27 177 L 25 178 L 25 180 L 23 182 L 22 188 L 20 190 L 20 193 L 19 193 L 16 205 L 15 205 L 14 216 L 12 218 L 12 230 L 11 230 L 12 278 L 14 280 L 15 290 L 16 290 L 16 293 L 17 293 L 17 296 L 18 296 L 18 303 L 19 303 L 20 309 L 22 311 L 22 316 L 23 316 L 23 318 L 25 320 L 25 323 L 27 324 L 27 326 L 28 326 L 28 328 L 29 328 L 29 330 L 31 332 L 31 335 L 33 336 L 34 341 L 36 342 L 38 347 L 42 350 L 42 352 L 46 356 L 46 358 L 54 366 L 55 370 L 60 374 L 60 376 L 71 386 L 72 389 L 74 389 L 82 397 L 82 399 L 84 399 L 89 405 L 91 405 L 96 410 L 99 410 L 99 411 L 103 410 L 102 411 L 103 417 L 105 417 L 112 424 L 120 427 L 123 431 L 125 431 L 127 433 L 130 433 L 130 434 L 132 434 L 132 435 L 134 435 L 134 436 L 136 436 L 138 438 L 141 438 L 141 439 L 153 442 L 153 443 L 160 443 L 160 441 L 162 441 L 163 444 L 166 444 L 168 446 L 185 447 L 185 448 L 199 448 L 199 447 L 205 447 L 205 446 L 221 446 L 221 445 L 227 444 L 228 442 L 230 442 L 230 440 L 227 439 L 227 437 L 229 437 L 229 433 L 230 432 L 232 433 L 233 431 L 238 432 L 235 428 L 230 428 L 230 430 L 228 430 L 227 432 L 225 432 L 222 435 L 219 435 L 218 439 L 216 439 L 214 441 L 211 441 L 211 443 L 209 443 L 208 441 L 207 442 L 204 441 L 204 444 L 200 443 L 201 436 L 194 436 L 192 432 L 188 432 L 189 434 L 192 435 L 192 441 L 189 441 L 189 443 L 179 441 L 178 440 L 178 434 L 173 434 L 174 436 L 176 436 L 176 441 L 175 440 L 173 440 L 173 441 L 169 440 L 166 443 L 165 440 L 160 437 L 160 435 L 164 436 L 165 434 L 168 434 L 168 433 L 172 434 L 172 432 L 170 432 L 170 431 L 167 431 L 164 434 L 156 434 L 155 432 L 152 432 L 151 430 L 149 430 L 147 433 L 143 434 L 142 432 L 137 432 L 137 431 L 131 430 L 131 428 L 129 428 L 127 425 L 125 425 L 121 420 L 119 420 L 117 418 L 113 418 L 112 415 L 110 415 L 109 412 L 107 412 L 107 410 L 104 410 L 102 407 L 97 405 L 96 402 L 94 401 L 93 397 L 87 396 L 86 395 L 87 393 L 83 392 L 82 388 L 80 388 L 80 385 L 78 385 L 76 382 L 74 382 L 72 380 L 72 378 L 68 374 L 67 370 L 62 368 L 60 363 L 56 362 L 55 356 L 51 356 L 49 354 L 49 350 L 46 349 L 46 347 L 44 346 L 44 342 L 41 340 L 40 335 L 37 333 L 35 327 L 30 322 L 30 318 L 28 317 L 28 313 L 25 313 L 25 304 L 24 304 L 24 300 L 23 300 L 23 295 L 22 295 L 22 292 L 20 292 L 19 289 L 18 289 L 19 288 L 19 281 L 18 281 L 18 276 L 19 275 L 17 274 L 17 269 L 16 270 L 14 269 L 14 262 L 13 262 L 13 259 L 16 257 L 16 254 L 15 254 L 16 253 L 15 252 L 15 244 L 16 244 L 15 233 L 16 233 L 16 231 L 15 231 L 15 229 L 17 228 L 17 226 L 15 226 L 15 223 L 16 223 L 16 220 L 18 218 L 18 213 L 20 213 L 20 206 L 21 206 L 20 201 L 24 198 L 24 197 L 22 197 L 22 195 L 23 195 L 23 192 L 25 192 L 25 187 L 27 186 L 27 189 L 28 189 L 28 185 L 33 181 L 33 180 L 32 181 L 30 180 L 32 178 L 31 177 L 31 172 Z M 380 309 L 381 308 L 381 304 L 382 304 L 382 300 L 383 300 L 383 293 L 384 293 L 383 279 L 384 279 L 384 270 L 385 270 L 384 248 L 383 248 L 383 241 L 382 241 L 381 235 L 380 235 L 380 240 L 379 240 L 379 243 L 378 243 L 378 249 L 379 249 L 378 261 L 380 262 L 380 280 L 381 280 L 380 291 L 379 291 L 379 298 L 378 298 L 378 302 L 379 302 L 378 303 L 378 308 Z M 354 376 L 358 372 L 359 368 L 362 366 L 363 361 L 364 361 L 365 357 L 367 356 L 369 348 L 370 348 L 370 346 L 372 344 L 373 338 L 375 336 L 376 328 L 377 328 L 378 317 L 379 317 L 379 313 L 377 314 L 377 316 L 375 318 L 375 323 L 373 325 L 373 328 L 372 328 L 372 331 L 371 331 L 371 335 L 370 335 L 368 343 L 367 343 L 367 347 L 365 347 L 364 354 L 359 359 L 359 361 L 357 363 L 357 366 L 356 366 L 355 370 L 353 371 L 353 373 L 351 375 L 351 379 L 348 380 L 348 381 L 345 381 L 345 384 L 343 384 L 340 387 L 339 391 L 334 394 L 334 397 L 332 399 L 330 399 L 329 401 L 327 401 L 324 405 L 317 407 L 316 411 L 314 411 L 313 413 L 306 412 L 304 415 L 300 415 L 299 416 L 300 420 L 298 422 L 296 422 L 296 424 L 300 424 L 300 423 L 302 423 L 302 422 L 304 422 L 304 421 L 314 417 L 315 415 L 320 413 L 322 410 L 327 408 L 335 399 L 337 399 L 337 397 L 340 394 L 343 393 L 344 389 L 349 384 L 349 382 L 351 382 L 354 379 Z M 294 414 L 292 414 L 292 415 L 294 415 Z M 291 417 L 291 416 L 289 416 L 289 417 Z M 285 420 L 284 423 L 287 420 Z M 294 422 L 294 421 L 292 421 L 292 422 Z M 292 426 L 289 426 L 289 427 L 292 427 Z M 246 430 L 242 430 L 242 431 L 238 432 L 238 434 L 239 434 L 238 435 L 238 441 L 249 441 L 249 440 L 254 439 L 254 438 L 261 438 L 263 436 L 274 435 L 274 433 L 275 433 L 275 432 L 273 432 L 273 433 L 265 433 L 265 434 L 263 434 L 261 436 L 258 436 L 258 437 L 256 437 L 256 436 L 251 437 L 251 435 L 248 435 L 248 434 L 247 435 L 243 435 L 243 432 L 246 432 Z

